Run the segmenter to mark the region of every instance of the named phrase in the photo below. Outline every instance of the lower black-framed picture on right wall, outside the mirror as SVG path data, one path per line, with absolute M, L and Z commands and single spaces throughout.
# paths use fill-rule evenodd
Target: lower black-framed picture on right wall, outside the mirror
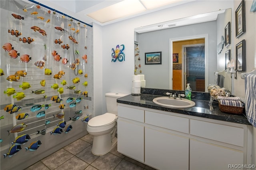
M 236 71 L 245 71 L 245 40 L 236 44 Z

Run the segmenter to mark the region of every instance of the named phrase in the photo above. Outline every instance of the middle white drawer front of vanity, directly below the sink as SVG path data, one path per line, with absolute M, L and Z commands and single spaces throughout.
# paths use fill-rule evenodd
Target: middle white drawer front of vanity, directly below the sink
M 189 132 L 189 119 L 184 117 L 145 111 L 145 123 L 187 134 Z

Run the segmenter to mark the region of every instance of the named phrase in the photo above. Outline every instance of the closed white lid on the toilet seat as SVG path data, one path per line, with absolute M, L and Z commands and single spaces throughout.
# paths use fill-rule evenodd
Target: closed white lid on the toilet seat
M 91 127 L 100 127 L 112 123 L 113 121 L 115 121 L 115 119 L 115 114 L 105 113 L 103 115 L 99 115 L 90 119 L 90 121 L 88 121 L 88 125 Z

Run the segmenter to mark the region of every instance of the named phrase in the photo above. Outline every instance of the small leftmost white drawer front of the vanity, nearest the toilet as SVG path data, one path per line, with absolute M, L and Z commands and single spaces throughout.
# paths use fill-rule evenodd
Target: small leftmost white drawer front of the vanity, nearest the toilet
M 132 107 L 118 106 L 118 117 L 144 123 L 144 110 Z

